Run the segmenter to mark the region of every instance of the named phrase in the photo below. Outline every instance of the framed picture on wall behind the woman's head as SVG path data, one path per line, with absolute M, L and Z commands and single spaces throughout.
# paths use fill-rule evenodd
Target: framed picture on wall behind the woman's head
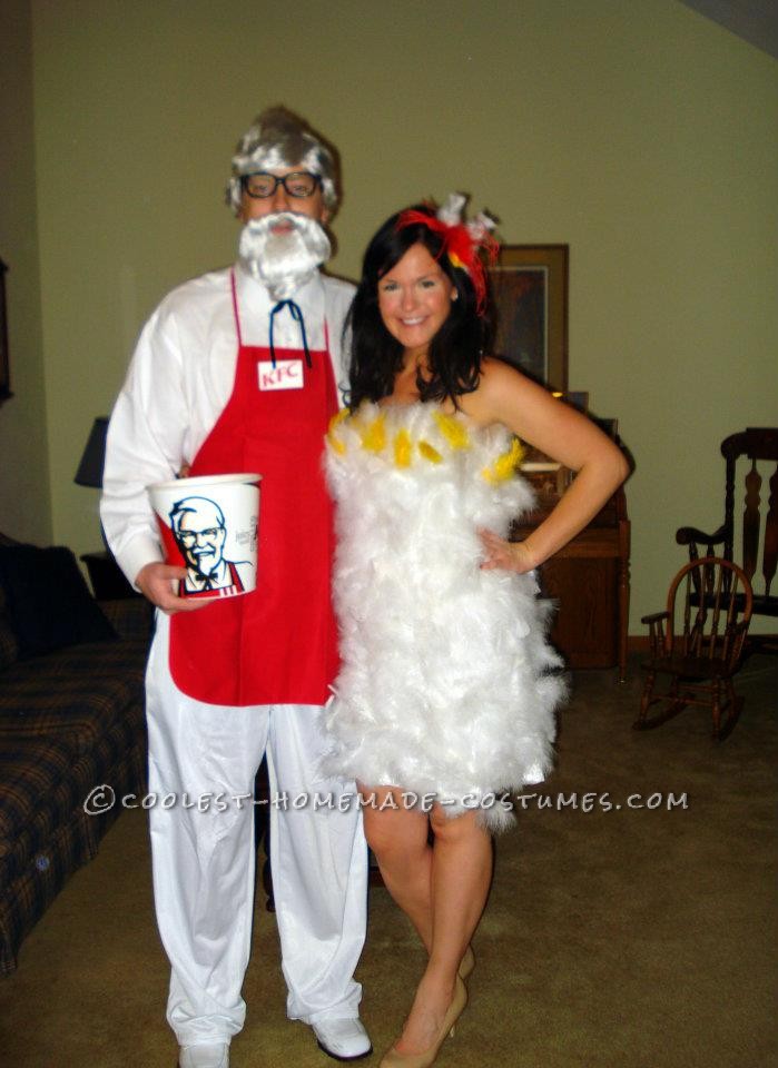
M 530 378 L 568 388 L 568 245 L 504 245 L 490 267 L 494 353 Z

